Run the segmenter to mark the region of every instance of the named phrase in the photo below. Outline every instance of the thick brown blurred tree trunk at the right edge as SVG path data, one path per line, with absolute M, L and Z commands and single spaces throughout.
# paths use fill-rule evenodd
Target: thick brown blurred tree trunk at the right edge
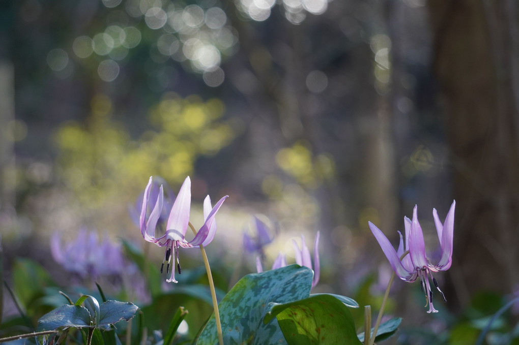
M 510 293 L 519 283 L 514 7 L 513 0 L 429 2 L 456 199 L 450 293 L 461 307 L 477 291 Z

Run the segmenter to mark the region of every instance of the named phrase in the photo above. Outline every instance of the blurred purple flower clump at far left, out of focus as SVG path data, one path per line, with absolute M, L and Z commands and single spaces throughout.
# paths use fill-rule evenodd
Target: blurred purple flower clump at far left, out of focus
M 54 233 L 50 250 L 57 263 L 82 278 L 118 275 L 125 267 L 121 247 L 107 237 L 99 241 L 97 233 L 86 228 L 68 243 L 62 243 L 60 234 Z

